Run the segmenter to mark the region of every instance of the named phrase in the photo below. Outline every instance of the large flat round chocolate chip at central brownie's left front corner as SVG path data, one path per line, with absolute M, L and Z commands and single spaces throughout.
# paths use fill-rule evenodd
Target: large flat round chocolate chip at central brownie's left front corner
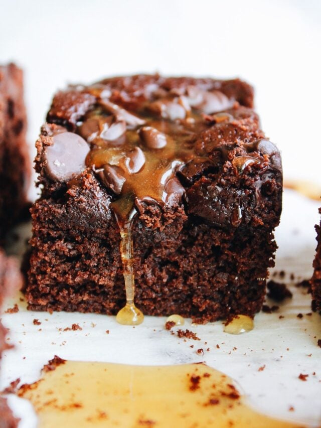
M 66 182 L 80 174 L 89 153 L 87 142 L 73 132 L 61 132 L 52 137 L 52 144 L 43 152 L 46 174 L 55 181 Z

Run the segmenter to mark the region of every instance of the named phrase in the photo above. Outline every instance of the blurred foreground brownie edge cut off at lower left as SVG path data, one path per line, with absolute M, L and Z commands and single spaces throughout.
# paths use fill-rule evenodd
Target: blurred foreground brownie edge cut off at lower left
M 6 257 L 0 249 L 0 310 L 2 309 L 4 298 L 21 288 L 21 286 L 22 276 L 17 261 L 13 257 Z M 0 359 L 2 352 L 8 348 L 6 333 L 7 329 L 0 323 Z M 12 414 L 6 398 L 0 395 L 0 427 L 15 428 L 16 426 L 18 426 L 18 419 Z

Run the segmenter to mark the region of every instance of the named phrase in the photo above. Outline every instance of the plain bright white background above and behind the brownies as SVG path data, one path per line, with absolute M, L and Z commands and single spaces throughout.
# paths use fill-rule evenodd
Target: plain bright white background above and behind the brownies
M 318 0 L 0 0 L 0 62 L 26 72 L 33 145 L 57 88 L 115 74 L 252 83 L 287 179 L 321 185 Z

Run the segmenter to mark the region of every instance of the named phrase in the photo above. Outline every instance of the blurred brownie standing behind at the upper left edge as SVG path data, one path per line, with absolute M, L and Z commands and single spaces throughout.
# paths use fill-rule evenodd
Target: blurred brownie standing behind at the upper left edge
M 0 241 L 26 206 L 30 172 L 23 73 L 0 66 Z

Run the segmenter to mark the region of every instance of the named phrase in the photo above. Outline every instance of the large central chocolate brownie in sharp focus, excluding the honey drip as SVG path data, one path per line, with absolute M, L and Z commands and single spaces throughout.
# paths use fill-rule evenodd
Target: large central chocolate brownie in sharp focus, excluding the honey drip
M 238 79 L 139 75 L 57 93 L 36 143 L 29 309 L 117 313 L 115 214 L 128 203 L 145 315 L 206 322 L 259 311 L 282 169 L 252 107 Z

